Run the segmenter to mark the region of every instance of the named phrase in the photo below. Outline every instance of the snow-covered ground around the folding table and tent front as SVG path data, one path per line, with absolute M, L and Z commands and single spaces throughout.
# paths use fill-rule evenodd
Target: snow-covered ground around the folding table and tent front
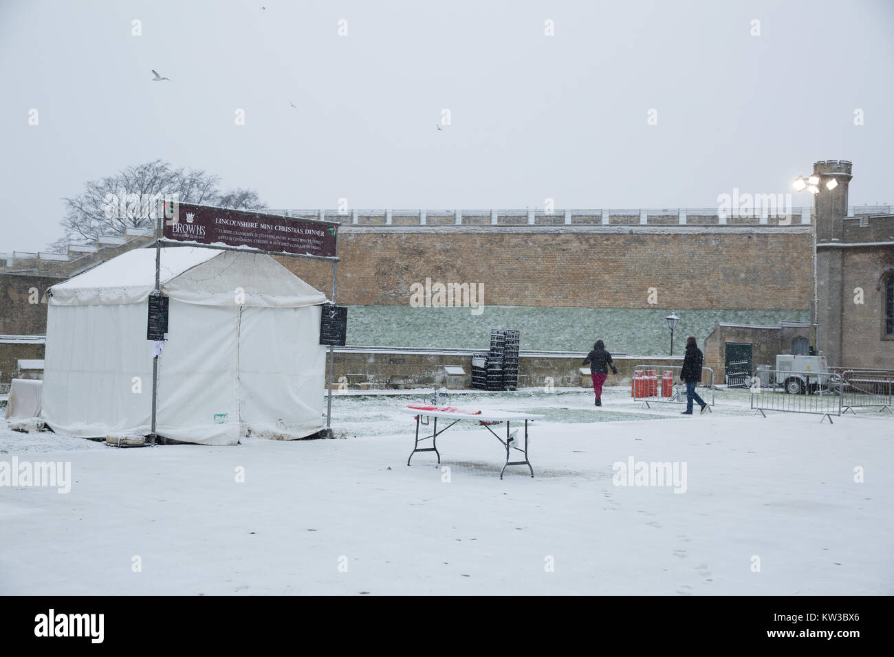
M 236 447 L 0 421 L 0 462 L 70 461 L 73 480 L 0 487 L 0 594 L 894 593 L 894 417 L 751 417 L 746 392 L 717 394 L 694 417 L 620 388 L 603 409 L 579 389 L 454 394 L 547 416 L 536 476 L 502 481 L 502 445 L 470 423 L 439 439 L 442 467 L 407 467 L 398 409 L 418 396 L 335 396 L 344 440 Z M 614 484 L 631 458 L 685 464 L 685 493 Z

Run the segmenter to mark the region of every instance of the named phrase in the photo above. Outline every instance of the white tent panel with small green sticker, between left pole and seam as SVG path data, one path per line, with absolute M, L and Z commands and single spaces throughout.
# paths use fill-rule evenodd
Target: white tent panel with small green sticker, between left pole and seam
M 168 341 L 158 368 L 156 433 L 181 442 L 232 445 L 238 307 L 169 302 Z

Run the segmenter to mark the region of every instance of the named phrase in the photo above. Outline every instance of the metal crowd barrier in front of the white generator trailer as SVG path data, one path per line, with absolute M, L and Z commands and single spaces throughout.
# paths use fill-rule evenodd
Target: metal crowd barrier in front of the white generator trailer
M 832 423 L 841 416 L 843 382 L 838 374 L 791 372 L 759 367 L 752 378 L 751 408 L 767 417 L 765 410 L 822 415 Z

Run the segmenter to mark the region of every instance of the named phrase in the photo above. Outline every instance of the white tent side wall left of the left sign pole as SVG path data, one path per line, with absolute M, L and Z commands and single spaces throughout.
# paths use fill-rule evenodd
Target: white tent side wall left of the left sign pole
M 148 434 L 147 314 L 145 303 L 47 307 L 41 415 L 55 432 L 89 438 Z

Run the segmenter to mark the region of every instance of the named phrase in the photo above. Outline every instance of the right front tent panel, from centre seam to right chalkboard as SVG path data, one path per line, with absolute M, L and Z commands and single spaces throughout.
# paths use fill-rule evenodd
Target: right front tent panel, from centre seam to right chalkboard
M 320 312 L 319 306 L 242 309 L 239 404 L 251 435 L 294 440 L 325 428 Z

